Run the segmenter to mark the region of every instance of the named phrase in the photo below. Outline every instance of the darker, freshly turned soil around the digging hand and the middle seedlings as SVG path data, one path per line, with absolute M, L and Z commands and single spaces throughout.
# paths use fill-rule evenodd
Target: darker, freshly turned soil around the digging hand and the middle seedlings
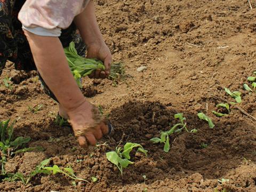
M 188 133 L 183 130 L 179 134 L 170 136 L 170 151 L 165 153 L 162 144 L 153 144 L 149 139 L 159 137 L 161 131 L 170 129 L 169 124 L 178 123 L 174 114 L 183 113 L 187 118 L 189 130 L 197 129 L 197 133 Z M 177 179 L 193 173 L 202 174 L 204 179 L 219 179 L 222 175 L 237 167 L 242 158 L 256 161 L 256 156 L 250 155 L 256 149 L 255 127 L 246 121 L 237 122 L 235 118 L 218 118 L 215 127 L 210 129 L 208 124 L 199 120 L 197 113 L 177 111 L 171 104 L 164 106 L 159 102 L 127 102 L 115 108 L 110 113 L 111 123 L 115 126 L 115 134 L 104 138 L 109 147 L 98 150 L 98 162 L 102 169 L 94 171 L 94 175 L 105 175 L 107 185 L 127 185 L 144 182 L 142 175 L 146 175 L 147 183 L 165 178 Z M 43 129 L 42 129 L 42 125 Z M 45 126 L 48 125 L 48 126 Z M 72 152 L 77 146 L 74 137 L 70 138 L 70 130 L 63 131 L 52 121 L 39 122 L 35 125 L 20 127 L 19 134 L 27 134 L 33 140 L 39 140 L 37 145 L 47 147 L 46 156 L 89 154 L 90 151 L 79 149 Z M 60 142 L 53 143 L 49 138 L 60 138 Z M 124 169 L 123 177 L 114 165 L 106 161 L 106 152 L 115 150 L 118 143 L 136 142 L 148 150 L 148 157 L 137 155 L 131 161 L 135 162 Z M 206 148 L 202 148 L 202 143 Z M 86 157 L 87 158 L 87 157 Z M 89 158 L 89 157 L 88 157 Z M 93 159 L 93 158 L 92 158 Z M 89 161 L 90 159 L 88 159 Z M 95 163 L 97 164 L 97 163 Z M 84 163 L 87 166 L 88 163 Z

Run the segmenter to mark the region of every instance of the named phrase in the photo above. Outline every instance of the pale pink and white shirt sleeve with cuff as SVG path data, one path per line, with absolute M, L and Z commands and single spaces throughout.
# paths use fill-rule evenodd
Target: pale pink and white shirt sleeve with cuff
M 27 0 L 18 19 L 24 29 L 41 36 L 59 37 L 91 0 Z

